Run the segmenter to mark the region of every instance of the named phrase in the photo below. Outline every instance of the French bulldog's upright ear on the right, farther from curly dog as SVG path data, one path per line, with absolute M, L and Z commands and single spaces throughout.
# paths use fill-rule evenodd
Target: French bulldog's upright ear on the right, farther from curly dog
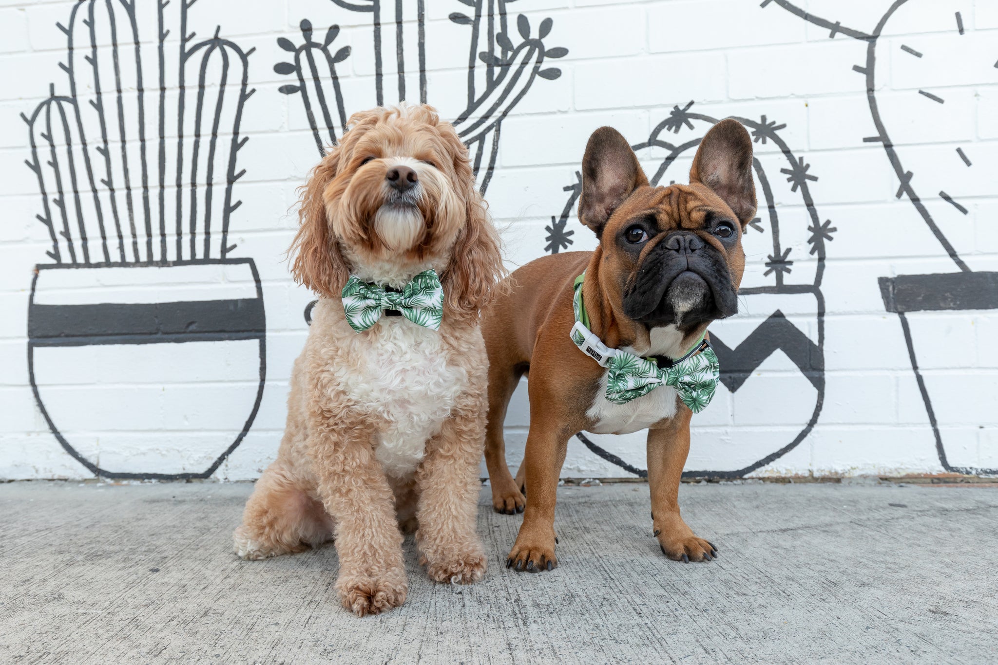
M 723 120 L 700 142 L 690 168 L 690 181 L 711 187 L 731 206 L 745 228 L 755 216 L 751 168 L 749 133 L 737 120 Z

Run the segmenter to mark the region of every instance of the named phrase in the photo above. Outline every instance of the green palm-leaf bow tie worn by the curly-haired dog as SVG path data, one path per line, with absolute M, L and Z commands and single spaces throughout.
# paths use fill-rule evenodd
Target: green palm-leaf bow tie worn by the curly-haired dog
M 400 292 L 350 275 L 340 295 L 346 322 L 356 332 L 363 332 L 377 323 L 386 309 L 396 310 L 413 323 L 431 330 L 439 330 L 443 319 L 443 286 L 432 268 L 413 277 Z

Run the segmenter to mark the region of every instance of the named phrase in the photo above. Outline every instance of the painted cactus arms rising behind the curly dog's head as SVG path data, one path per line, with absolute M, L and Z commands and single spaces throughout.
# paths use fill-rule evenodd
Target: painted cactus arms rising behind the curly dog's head
M 553 26 L 550 18 L 541 21 L 534 36 L 530 21 L 520 14 L 516 18 L 516 35 L 512 35 L 506 11 L 507 3 L 512 1 L 459 0 L 467 8 L 466 13 L 450 14 L 453 23 L 468 26 L 471 33 L 467 106 L 453 122 L 471 152 L 476 181 L 483 193 L 495 168 L 503 119 L 538 77 L 553 80 L 561 76 L 560 69 L 545 66 L 546 59 L 568 54 L 565 48 L 544 45 Z M 331 2 L 342 9 L 371 14 L 377 105 L 416 99 L 426 103 L 423 0 L 406 3 L 396 0 L 384 6 L 381 0 Z M 339 33 L 337 25 L 328 28 L 320 41 L 315 39 L 310 21 L 302 20 L 300 29 L 302 42 L 297 46 L 285 38 L 277 40 L 280 48 L 293 54 L 293 59 L 277 63 L 273 69 L 278 74 L 296 75 L 297 83 L 282 86 L 280 92 L 299 96 L 322 155 L 324 146 L 342 136 L 348 109 L 353 109 L 350 101 L 343 99 L 336 73 L 336 65 L 350 56 L 350 47 L 333 50 Z M 514 43 L 514 38 L 519 43 Z

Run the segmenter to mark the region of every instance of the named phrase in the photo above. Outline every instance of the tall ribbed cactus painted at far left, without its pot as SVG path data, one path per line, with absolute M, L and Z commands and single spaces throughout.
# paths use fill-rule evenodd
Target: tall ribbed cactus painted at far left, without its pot
M 252 49 L 244 53 L 218 31 L 192 44 L 188 11 L 196 1 L 179 0 L 179 12 L 167 11 L 171 0 L 157 2 L 152 42 L 142 43 L 149 35 L 140 35 L 137 0 L 82 0 L 69 27 L 57 24 L 67 37 L 60 67 L 69 95 L 53 86 L 30 118 L 22 115 L 42 194 L 39 218 L 57 263 L 149 264 L 232 251 Z

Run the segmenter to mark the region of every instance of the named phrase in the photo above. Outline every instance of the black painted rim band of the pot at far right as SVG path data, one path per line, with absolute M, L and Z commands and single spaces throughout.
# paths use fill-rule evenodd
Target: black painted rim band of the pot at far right
M 888 312 L 998 309 L 998 272 L 880 277 Z

